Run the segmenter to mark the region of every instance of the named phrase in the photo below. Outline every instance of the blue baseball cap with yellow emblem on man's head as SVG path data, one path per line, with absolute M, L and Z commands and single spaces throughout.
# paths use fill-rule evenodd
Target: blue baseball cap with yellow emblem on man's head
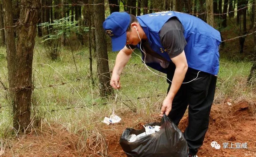
M 126 44 L 126 30 L 131 17 L 126 12 L 113 12 L 103 22 L 103 28 L 111 37 L 112 51 L 120 51 Z

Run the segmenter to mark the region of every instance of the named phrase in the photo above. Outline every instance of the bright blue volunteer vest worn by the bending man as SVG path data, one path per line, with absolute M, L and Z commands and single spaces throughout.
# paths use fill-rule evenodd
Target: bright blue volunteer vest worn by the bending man
M 147 35 L 152 50 L 167 61 L 172 62 L 159 37 L 162 26 L 172 17 L 177 17 L 184 27 L 183 34 L 187 41 L 184 51 L 188 67 L 217 75 L 219 71 L 219 45 L 221 43 L 220 32 L 192 15 L 164 11 L 138 16 L 139 24 Z M 139 45 L 137 45 L 137 48 L 139 48 Z M 144 59 L 143 52 L 142 59 Z M 162 68 L 160 62 L 154 61 L 146 64 L 160 72 L 167 73 L 167 69 Z

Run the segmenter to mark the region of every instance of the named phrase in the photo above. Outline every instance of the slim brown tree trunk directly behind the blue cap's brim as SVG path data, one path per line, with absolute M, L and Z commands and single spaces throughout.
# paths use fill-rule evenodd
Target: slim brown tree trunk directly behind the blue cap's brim
M 104 0 L 94 0 L 94 3 L 104 3 Z M 96 38 L 96 55 L 97 55 L 97 71 L 99 75 L 100 95 L 105 97 L 111 94 L 110 88 L 110 73 L 108 66 L 106 33 L 102 28 L 102 23 L 105 20 L 104 5 L 94 6 L 95 20 L 95 38 Z M 103 74 L 104 73 L 104 74 Z

